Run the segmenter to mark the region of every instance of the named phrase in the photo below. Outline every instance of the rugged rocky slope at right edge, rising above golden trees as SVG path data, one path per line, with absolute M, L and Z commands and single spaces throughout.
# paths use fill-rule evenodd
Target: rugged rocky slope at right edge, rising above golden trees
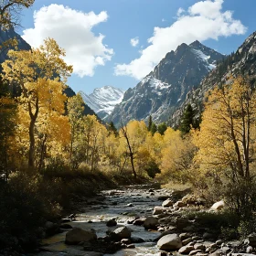
M 188 103 L 192 105 L 198 117 L 203 111 L 206 92 L 216 85 L 221 86 L 226 83 L 227 77 L 238 75 L 256 80 L 256 32 L 251 34 L 236 52 L 219 61 L 217 68 L 208 73 L 197 89 L 187 93 L 186 100 L 172 114 L 168 123 L 177 126 Z

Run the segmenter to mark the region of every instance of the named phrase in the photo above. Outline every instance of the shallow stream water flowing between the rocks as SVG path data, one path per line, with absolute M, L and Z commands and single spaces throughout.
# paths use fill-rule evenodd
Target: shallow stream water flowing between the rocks
M 108 229 L 117 229 L 126 226 L 132 229 L 132 237 L 142 238 L 143 243 L 135 243 L 134 249 L 125 249 L 114 254 L 104 254 L 104 256 L 142 256 L 159 255 L 156 243 L 153 241 L 160 234 L 158 231 L 148 231 L 144 227 L 127 224 L 128 220 L 135 216 L 151 216 L 155 206 L 161 206 L 163 200 L 158 197 L 168 196 L 170 192 L 166 189 L 149 189 L 146 186 L 129 186 L 114 190 L 102 191 L 96 201 L 91 202 L 80 209 L 76 221 L 69 222 L 72 227 L 81 229 L 94 229 L 98 238 L 104 237 Z M 116 219 L 117 226 L 109 228 L 106 221 Z M 35 256 L 85 256 L 82 246 L 69 246 L 65 244 L 66 232 L 57 234 L 42 241 L 42 252 Z M 96 255 L 96 254 L 95 254 Z

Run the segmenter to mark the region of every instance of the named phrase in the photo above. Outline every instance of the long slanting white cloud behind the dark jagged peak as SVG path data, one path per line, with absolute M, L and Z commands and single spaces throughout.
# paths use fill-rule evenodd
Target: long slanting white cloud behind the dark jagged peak
M 155 27 L 153 37 L 148 39 L 150 45 L 142 50 L 141 57 L 129 64 L 117 64 L 115 75 L 141 80 L 167 52 L 182 43 L 244 34 L 247 28 L 233 19 L 231 11 L 223 12 L 222 4 L 223 0 L 205 0 L 190 6 L 187 12 L 179 9 L 176 22 L 170 27 Z

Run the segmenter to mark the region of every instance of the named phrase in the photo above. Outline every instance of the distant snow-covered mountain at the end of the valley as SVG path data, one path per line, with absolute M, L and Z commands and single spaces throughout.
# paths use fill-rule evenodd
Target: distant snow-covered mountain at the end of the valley
M 102 120 L 113 111 L 116 104 L 123 100 L 123 93 L 124 91 L 122 89 L 110 85 L 96 88 L 89 95 L 80 91 L 83 101 L 85 101 Z

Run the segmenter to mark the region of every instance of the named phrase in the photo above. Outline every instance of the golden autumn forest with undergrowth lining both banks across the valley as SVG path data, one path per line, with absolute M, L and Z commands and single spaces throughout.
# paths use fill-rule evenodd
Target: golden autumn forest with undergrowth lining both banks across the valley
M 13 26 L 13 16 L 5 7 L 0 11 L 2 26 Z M 25 249 L 31 247 L 40 237 L 38 228 L 59 219 L 72 201 L 122 184 L 188 183 L 210 201 L 225 198 L 240 221 L 251 221 L 255 80 L 229 77 L 208 91 L 200 118 L 187 105 L 178 129 L 157 125 L 152 117 L 116 129 L 96 115 L 84 115 L 80 94 L 65 95 L 72 67 L 64 57 L 65 49 L 47 38 L 40 48 L 12 47 L 2 64 L 0 248 L 14 237 L 23 237 Z M 20 93 L 14 95 L 13 88 Z

